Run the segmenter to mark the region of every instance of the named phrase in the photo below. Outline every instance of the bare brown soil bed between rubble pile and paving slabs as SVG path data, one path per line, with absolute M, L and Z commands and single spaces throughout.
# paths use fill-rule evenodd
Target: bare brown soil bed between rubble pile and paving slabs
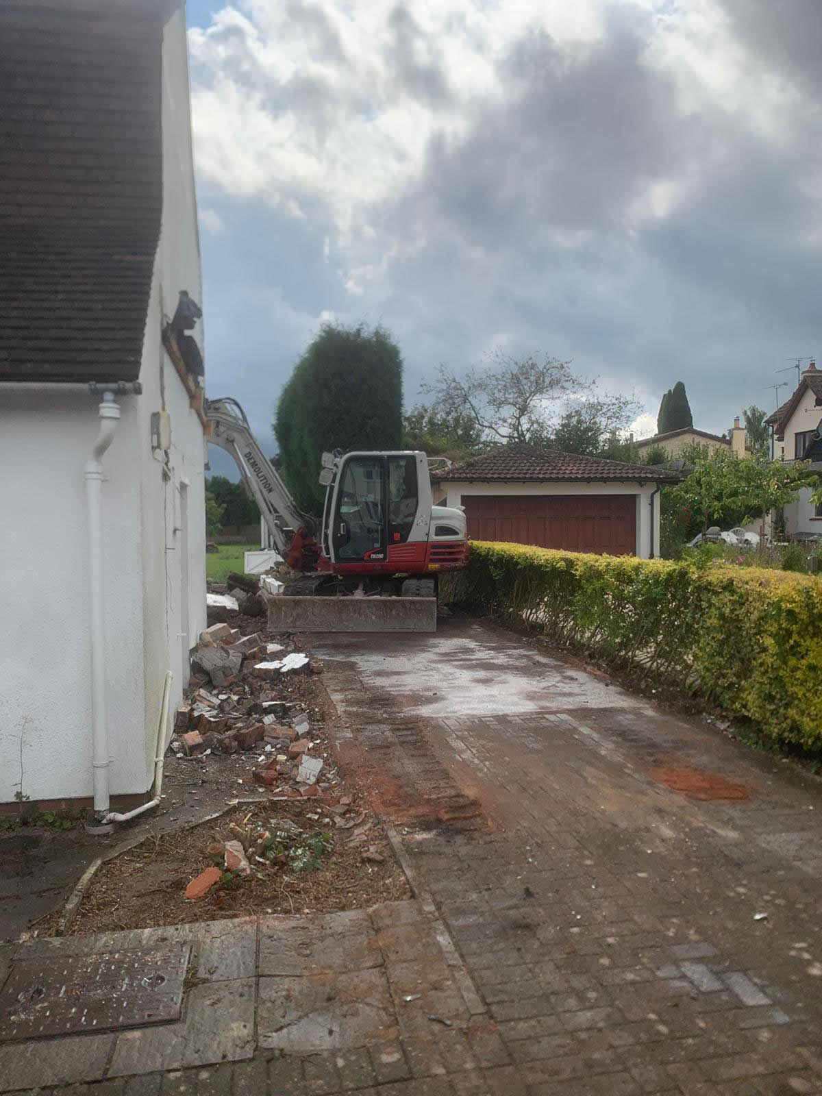
M 368 817 L 358 825 L 340 829 L 333 806 L 317 800 L 267 800 L 237 807 L 219 819 L 176 833 L 147 837 L 100 868 L 70 935 L 266 913 L 324 913 L 410 898 L 408 880 L 381 824 Z M 341 817 L 346 826 L 362 814 L 356 803 L 350 812 L 350 820 Z M 261 864 L 252 858 L 253 871 L 248 878 L 226 874 L 224 881 L 198 901 L 184 898 L 187 883 L 199 872 L 222 866 L 222 856 L 209 853 L 209 845 L 236 840 L 238 830 L 255 825 L 270 830 L 272 819 L 296 823 L 307 837 L 330 837 L 330 847 L 317 858 L 316 870 L 295 870 L 293 863 Z M 364 861 L 366 848 L 384 857 L 383 861 Z M 55 915 L 41 935 L 54 935 L 56 923 Z

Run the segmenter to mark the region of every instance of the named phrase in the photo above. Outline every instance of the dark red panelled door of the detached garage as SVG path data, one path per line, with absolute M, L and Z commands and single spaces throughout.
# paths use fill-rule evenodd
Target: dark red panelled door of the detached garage
M 637 549 L 632 494 L 464 494 L 468 536 L 543 548 L 629 556 Z

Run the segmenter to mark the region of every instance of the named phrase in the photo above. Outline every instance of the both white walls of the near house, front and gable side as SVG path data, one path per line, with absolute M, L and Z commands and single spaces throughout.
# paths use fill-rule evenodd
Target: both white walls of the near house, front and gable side
M 172 706 L 187 681 L 184 649 L 205 627 L 203 429 L 161 339 L 180 289 L 202 301 L 189 141 L 185 28 L 176 12 L 163 43 L 163 220 L 146 322 L 140 396 L 103 458 L 103 582 L 112 796 L 152 779 L 164 676 Z M 199 332 L 195 332 L 198 336 Z M 87 798 L 92 792 L 88 526 L 83 465 L 98 434 L 99 396 L 83 386 L 3 385 L 0 458 L 0 802 Z M 171 419 L 164 455 L 150 416 Z M 187 492 L 187 537 L 181 528 Z M 187 539 L 187 552 L 182 548 Z M 182 636 L 187 574 L 189 636 Z M 22 775 L 21 775 L 22 774 Z

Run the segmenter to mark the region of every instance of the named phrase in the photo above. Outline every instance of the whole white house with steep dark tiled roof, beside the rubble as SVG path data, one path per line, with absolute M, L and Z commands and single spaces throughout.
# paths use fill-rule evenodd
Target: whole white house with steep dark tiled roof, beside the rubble
M 184 5 L 3 0 L 0 71 L 0 803 L 100 821 L 206 624 Z

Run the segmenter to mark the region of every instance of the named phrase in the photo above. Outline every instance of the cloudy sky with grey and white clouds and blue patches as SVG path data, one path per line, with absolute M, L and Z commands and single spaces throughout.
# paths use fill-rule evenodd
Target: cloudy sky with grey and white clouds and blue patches
M 571 358 L 721 433 L 815 353 L 819 0 L 189 0 L 208 393 L 318 326 Z M 789 390 L 780 390 L 780 401 Z

